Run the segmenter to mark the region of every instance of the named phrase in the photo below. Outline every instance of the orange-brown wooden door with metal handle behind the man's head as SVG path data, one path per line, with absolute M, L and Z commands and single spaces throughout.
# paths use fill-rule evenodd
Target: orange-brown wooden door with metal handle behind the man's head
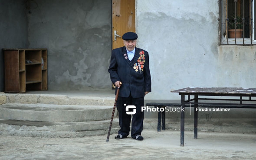
M 135 32 L 135 0 L 112 0 L 112 49 L 124 46 L 126 32 Z

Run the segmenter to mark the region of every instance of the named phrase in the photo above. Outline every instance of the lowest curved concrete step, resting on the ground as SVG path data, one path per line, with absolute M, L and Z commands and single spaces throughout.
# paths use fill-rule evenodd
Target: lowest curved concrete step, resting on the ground
M 84 137 L 108 134 L 110 120 L 91 122 L 47 123 L 36 121 L 0 120 L 0 135 L 29 137 Z M 114 119 L 111 134 L 119 130 Z

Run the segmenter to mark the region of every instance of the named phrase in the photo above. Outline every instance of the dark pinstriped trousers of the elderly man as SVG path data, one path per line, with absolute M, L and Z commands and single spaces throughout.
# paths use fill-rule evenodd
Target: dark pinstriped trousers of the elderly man
M 131 95 L 127 98 L 118 97 L 117 104 L 116 104 L 116 107 L 119 113 L 119 125 L 120 125 L 120 130 L 118 131 L 118 134 L 122 134 L 123 137 L 128 136 L 130 132 L 131 115 L 128 115 L 125 112 L 125 107 L 128 105 L 136 106 L 136 113 L 132 115 L 132 130 L 131 130 L 132 138 L 136 138 L 137 135 L 141 134 L 143 129 L 144 112 L 141 111 L 141 107 L 144 105 L 144 97 L 132 98 Z

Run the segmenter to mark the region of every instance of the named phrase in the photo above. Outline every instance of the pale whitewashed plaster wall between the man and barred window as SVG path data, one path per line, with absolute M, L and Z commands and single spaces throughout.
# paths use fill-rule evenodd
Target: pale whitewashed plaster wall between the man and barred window
M 218 46 L 218 1 L 137 1 L 138 45 L 150 54 L 152 93 L 185 87 L 256 87 L 255 46 Z

